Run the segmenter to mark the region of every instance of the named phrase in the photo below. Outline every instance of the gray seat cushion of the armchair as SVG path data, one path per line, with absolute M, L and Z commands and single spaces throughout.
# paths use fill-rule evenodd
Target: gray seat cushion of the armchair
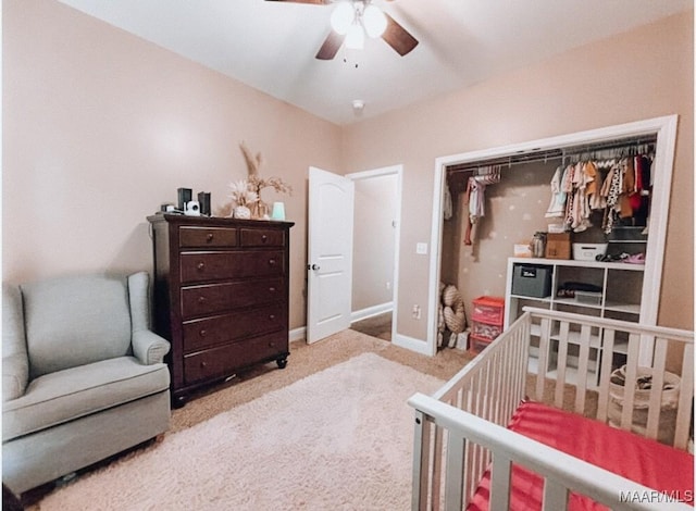
M 3 403 L 2 441 L 166 390 L 166 364 L 121 357 L 47 374 Z

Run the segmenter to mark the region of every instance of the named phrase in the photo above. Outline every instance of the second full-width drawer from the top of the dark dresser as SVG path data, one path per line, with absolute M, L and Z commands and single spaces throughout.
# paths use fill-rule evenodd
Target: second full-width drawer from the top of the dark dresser
M 184 287 L 182 317 L 187 320 L 283 300 L 287 294 L 285 286 L 285 279 L 278 277 Z

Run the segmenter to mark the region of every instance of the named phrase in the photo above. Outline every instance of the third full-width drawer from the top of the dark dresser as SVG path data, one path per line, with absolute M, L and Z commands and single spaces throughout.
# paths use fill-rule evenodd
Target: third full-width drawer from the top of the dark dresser
M 279 302 L 228 314 L 186 321 L 182 325 L 186 353 L 243 337 L 287 332 L 287 303 Z

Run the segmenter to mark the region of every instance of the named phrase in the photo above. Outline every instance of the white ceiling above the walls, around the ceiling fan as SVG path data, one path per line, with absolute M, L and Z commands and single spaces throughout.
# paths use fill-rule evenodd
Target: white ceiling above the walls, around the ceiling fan
M 693 0 L 374 0 L 420 45 L 382 39 L 314 59 L 331 5 L 264 0 L 60 0 L 337 124 L 694 8 Z M 357 64 L 357 66 L 356 66 Z M 353 112 L 352 100 L 365 103 Z

